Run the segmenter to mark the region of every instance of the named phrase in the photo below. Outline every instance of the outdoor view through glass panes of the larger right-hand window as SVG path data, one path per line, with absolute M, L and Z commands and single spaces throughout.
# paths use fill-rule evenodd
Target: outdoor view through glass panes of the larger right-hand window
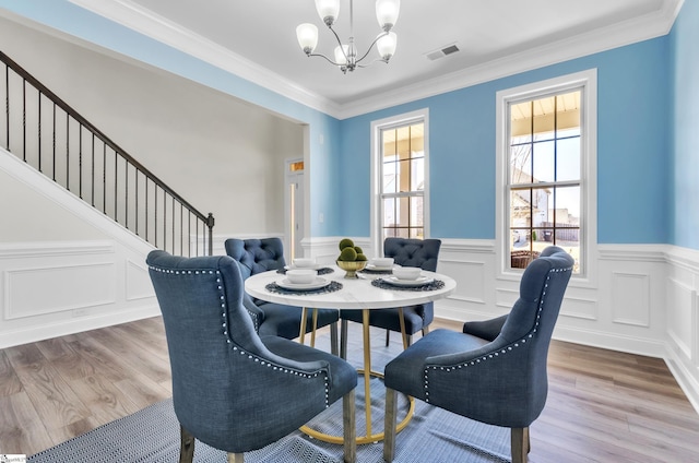
M 557 245 L 576 259 L 581 242 L 582 90 L 510 103 L 510 265 L 523 269 Z

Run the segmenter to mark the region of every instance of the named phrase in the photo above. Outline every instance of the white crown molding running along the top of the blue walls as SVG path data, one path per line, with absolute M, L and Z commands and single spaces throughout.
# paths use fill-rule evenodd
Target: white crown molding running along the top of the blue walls
M 347 104 L 332 102 L 271 72 L 220 45 L 185 29 L 130 0 L 69 0 L 144 36 L 164 43 L 239 78 L 337 119 L 372 112 L 465 88 L 508 75 L 606 51 L 666 35 L 684 0 L 663 0 L 661 9 L 607 27 L 494 59 L 464 70 L 395 90 L 382 91 Z

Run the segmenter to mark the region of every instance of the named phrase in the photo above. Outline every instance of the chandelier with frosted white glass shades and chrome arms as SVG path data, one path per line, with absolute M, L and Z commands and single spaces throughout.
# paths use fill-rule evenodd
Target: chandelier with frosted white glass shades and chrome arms
M 347 71 L 352 72 L 355 68 L 366 68 L 376 61 L 388 63 L 389 59 L 391 59 L 395 52 L 398 37 L 394 32 L 391 32 L 391 29 L 395 25 L 400 8 L 401 0 L 376 1 L 376 17 L 383 32 L 374 39 L 367 51 L 360 58 L 357 58 L 357 48 L 354 45 L 354 0 L 350 0 L 350 39 L 347 40 L 347 44 L 343 44 L 335 29 L 332 28 L 332 25 L 337 20 L 337 14 L 340 13 L 340 0 L 316 0 L 316 10 L 318 10 L 318 15 L 337 40 L 334 60 L 322 54 L 313 52 L 318 45 L 318 27 L 313 24 L 304 23 L 296 27 L 296 38 L 298 39 L 298 45 L 300 45 L 307 56 L 324 58 L 330 63 L 340 67 L 340 70 L 345 74 Z M 374 45 L 376 45 L 376 49 L 379 52 L 380 58 L 377 58 L 366 64 L 359 64 L 369 55 Z

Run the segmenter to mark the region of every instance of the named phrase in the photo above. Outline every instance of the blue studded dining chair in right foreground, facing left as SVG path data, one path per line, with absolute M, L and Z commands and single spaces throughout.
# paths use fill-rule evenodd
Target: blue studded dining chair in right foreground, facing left
M 489 425 L 511 428 L 512 463 L 526 462 L 529 426 L 546 403 L 548 345 L 573 259 L 550 246 L 524 270 L 502 317 L 435 330 L 386 366 L 383 459 L 395 451 L 395 392 Z

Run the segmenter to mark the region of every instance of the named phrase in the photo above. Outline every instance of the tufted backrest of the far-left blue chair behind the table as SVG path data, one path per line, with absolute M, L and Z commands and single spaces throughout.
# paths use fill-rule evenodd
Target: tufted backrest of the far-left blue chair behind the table
M 280 238 L 226 239 L 226 254 L 241 264 L 242 280 L 268 270 L 279 270 L 286 265 L 284 244 Z

